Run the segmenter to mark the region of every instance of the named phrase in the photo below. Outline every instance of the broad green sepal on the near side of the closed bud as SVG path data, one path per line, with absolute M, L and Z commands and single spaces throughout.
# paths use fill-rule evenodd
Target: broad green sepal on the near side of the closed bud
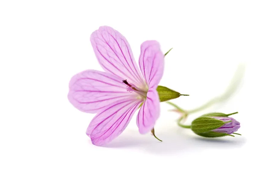
M 230 122 L 230 121 L 229 121 Z M 223 126 L 225 123 L 222 120 L 218 120 L 211 117 L 198 117 L 191 123 L 191 129 L 195 133 L 204 133 L 209 132 L 214 129 L 218 129 Z

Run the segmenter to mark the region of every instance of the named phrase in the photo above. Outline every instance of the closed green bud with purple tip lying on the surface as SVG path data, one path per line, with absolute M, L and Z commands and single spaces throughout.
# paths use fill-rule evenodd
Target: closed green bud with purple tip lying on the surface
M 228 115 L 224 113 L 209 113 L 202 115 L 192 122 L 191 129 L 195 134 L 203 137 L 233 136 L 231 134 L 237 134 L 234 132 L 240 128 L 240 123 L 228 116 L 236 113 Z

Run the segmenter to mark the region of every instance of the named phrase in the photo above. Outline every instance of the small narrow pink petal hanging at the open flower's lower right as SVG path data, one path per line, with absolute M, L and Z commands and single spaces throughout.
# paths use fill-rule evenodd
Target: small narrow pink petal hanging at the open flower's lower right
M 160 100 L 156 89 L 149 89 L 147 99 L 140 108 L 137 115 L 137 126 L 139 132 L 145 134 L 153 129 L 160 115 Z

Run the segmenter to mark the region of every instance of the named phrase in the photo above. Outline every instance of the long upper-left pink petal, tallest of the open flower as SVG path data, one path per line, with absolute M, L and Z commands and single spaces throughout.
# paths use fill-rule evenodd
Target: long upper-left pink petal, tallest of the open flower
M 144 81 L 134 60 L 131 47 L 125 37 L 109 26 L 101 26 L 90 37 L 93 50 L 102 68 L 133 83 L 144 87 Z

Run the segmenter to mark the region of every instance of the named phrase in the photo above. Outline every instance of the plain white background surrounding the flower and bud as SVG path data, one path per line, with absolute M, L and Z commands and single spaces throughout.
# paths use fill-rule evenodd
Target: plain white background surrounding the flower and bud
M 215 168 L 253 165 L 255 152 L 255 1 L 1 0 L 0 168 Z M 204 139 L 176 125 L 161 103 L 159 142 L 140 135 L 133 118 L 107 146 L 85 134 L 94 115 L 67 100 L 70 78 L 102 70 L 90 34 L 111 26 L 128 40 L 136 61 L 140 44 L 157 40 L 165 58 L 160 85 L 190 96 L 172 100 L 192 109 L 221 95 L 239 64 L 245 74 L 229 100 L 200 112 L 239 112 L 242 136 Z M 136 116 L 134 116 L 136 117 Z M 253 153 L 253 154 L 250 154 Z

